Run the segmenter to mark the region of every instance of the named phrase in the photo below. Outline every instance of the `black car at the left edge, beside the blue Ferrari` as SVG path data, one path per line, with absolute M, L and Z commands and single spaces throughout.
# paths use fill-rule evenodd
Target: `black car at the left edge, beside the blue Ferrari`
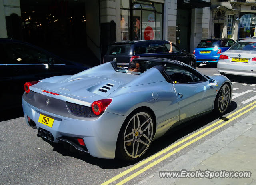
M 18 40 L 0 39 L 0 109 L 21 107 L 24 83 L 58 75 L 71 75 L 88 69 L 64 60 L 42 48 Z M 10 101 L 11 100 L 11 101 Z

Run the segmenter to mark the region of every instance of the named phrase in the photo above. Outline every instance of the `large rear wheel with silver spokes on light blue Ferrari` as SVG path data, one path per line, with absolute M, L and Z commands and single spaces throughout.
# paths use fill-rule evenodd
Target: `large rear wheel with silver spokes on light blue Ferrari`
M 126 161 L 140 160 L 150 148 L 155 132 L 156 125 L 149 111 L 138 109 L 132 112 L 120 129 L 116 157 Z

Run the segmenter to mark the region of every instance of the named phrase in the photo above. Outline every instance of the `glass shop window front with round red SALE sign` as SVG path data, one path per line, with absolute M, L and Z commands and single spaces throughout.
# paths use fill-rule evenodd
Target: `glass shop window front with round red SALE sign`
M 163 4 L 137 0 L 120 3 L 121 40 L 163 38 Z

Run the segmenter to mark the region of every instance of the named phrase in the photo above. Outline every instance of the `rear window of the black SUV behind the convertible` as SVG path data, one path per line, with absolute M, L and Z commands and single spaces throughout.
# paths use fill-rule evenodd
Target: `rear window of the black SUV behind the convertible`
M 132 54 L 132 44 L 120 44 L 112 45 L 108 48 L 106 54 L 109 55 L 131 55 Z

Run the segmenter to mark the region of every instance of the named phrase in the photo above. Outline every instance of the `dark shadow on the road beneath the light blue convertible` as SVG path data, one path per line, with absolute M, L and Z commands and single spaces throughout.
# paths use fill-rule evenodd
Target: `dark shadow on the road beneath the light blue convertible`
M 232 101 L 230 106 L 228 107 L 227 114 L 234 111 L 236 107 L 237 107 L 236 102 Z M 152 142 L 152 146 L 150 147 L 148 153 L 144 156 L 143 159 L 150 157 L 151 155 L 154 155 L 155 153 L 168 147 L 172 143 L 178 141 L 180 138 L 200 129 L 201 127 L 204 127 L 205 125 L 211 123 L 214 120 L 219 120 L 219 119 L 228 121 L 226 117 L 216 115 L 214 112 L 212 112 L 207 115 L 203 115 L 201 117 L 188 121 L 186 123 L 182 123 L 181 125 L 178 125 L 170 129 L 170 131 L 168 131 L 168 133 L 166 133 L 163 137 L 160 137 L 159 139 L 156 139 L 155 141 Z M 99 159 L 96 157 L 92 157 L 88 153 L 85 153 L 84 155 L 80 155 L 78 153 L 72 153 L 71 151 L 64 149 L 62 144 L 52 143 L 46 139 L 44 140 L 48 142 L 50 145 L 52 145 L 53 151 L 56 151 L 62 154 L 63 156 L 75 157 L 77 159 L 85 161 L 86 163 L 97 165 L 102 169 L 118 169 L 118 168 L 130 166 L 130 165 L 134 165 L 136 162 L 138 162 L 138 161 L 134 161 L 131 163 L 131 162 L 126 162 L 118 159 Z

